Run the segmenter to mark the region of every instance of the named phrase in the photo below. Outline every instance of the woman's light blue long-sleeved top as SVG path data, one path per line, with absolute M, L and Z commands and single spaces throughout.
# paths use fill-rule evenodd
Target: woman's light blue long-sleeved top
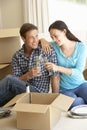
M 72 75 L 60 74 L 60 90 L 74 89 L 83 82 L 86 82 L 83 77 L 83 70 L 87 57 L 86 44 L 76 42 L 75 51 L 70 57 L 66 57 L 61 48 L 55 42 L 51 42 L 51 45 L 57 53 L 58 65 L 72 69 Z

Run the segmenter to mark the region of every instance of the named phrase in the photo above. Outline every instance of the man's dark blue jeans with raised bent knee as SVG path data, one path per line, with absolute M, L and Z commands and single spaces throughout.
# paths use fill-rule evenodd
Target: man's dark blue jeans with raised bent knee
M 37 92 L 34 87 L 30 87 L 31 92 Z M 0 80 L 0 107 L 10 101 L 17 94 L 26 92 L 26 82 L 19 80 L 14 75 L 7 75 Z

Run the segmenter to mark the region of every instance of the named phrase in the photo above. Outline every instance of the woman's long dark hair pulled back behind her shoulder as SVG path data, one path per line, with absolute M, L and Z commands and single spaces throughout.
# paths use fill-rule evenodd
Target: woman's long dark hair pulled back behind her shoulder
M 51 29 L 58 29 L 58 30 L 61 30 L 63 31 L 64 29 L 66 30 L 66 37 L 69 39 L 69 40 L 72 40 L 72 41 L 78 41 L 78 42 L 81 42 L 77 37 L 75 37 L 71 32 L 70 30 L 68 29 L 67 25 L 61 21 L 61 20 L 58 20 L 58 21 L 55 21 L 54 23 L 52 23 L 50 26 L 49 26 L 49 32 Z

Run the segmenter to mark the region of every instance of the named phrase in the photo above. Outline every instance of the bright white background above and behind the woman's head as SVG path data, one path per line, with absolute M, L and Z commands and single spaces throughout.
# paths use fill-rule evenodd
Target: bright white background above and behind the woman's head
M 54 4 L 54 7 L 53 7 Z M 87 4 L 64 0 L 49 0 L 50 23 L 63 20 L 81 41 L 87 43 Z

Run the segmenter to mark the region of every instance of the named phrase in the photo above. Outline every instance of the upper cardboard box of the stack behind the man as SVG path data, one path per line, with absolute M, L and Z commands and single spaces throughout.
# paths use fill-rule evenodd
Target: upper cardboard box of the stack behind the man
M 0 63 L 11 63 L 13 54 L 20 48 L 19 28 L 0 30 Z

